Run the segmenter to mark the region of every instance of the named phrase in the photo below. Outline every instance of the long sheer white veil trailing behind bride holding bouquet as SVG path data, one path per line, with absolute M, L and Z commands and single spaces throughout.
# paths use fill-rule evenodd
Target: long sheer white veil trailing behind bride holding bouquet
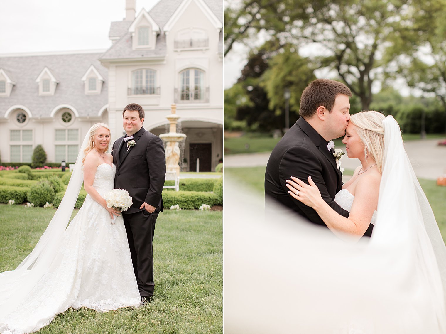
M 89 144 L 89 136 L 90 130 L 79 150 L 65 195 L 37 245 L 15 270 L 0 273 L 0 316 L 10 313 L 26 300 L 29 292 L 58 255 L 62 234 L 68 226 L 83 183 L 83 150 Z

